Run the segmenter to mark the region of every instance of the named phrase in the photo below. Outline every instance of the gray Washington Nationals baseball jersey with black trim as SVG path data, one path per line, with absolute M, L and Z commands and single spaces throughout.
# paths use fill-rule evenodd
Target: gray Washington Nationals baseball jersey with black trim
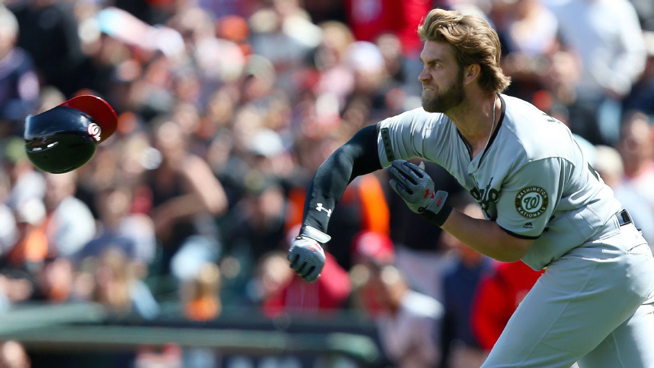
M 536 239 L 522 261 L 540 270 L 591 238 L 621 205 L 565 124 L 526 101 L 500 99 L 500 122 L 483 153 L 471 157 L 452 120 L 420 107 L 380 123 L 379 160 L 387 167 L 421 157 L 443 166 L 487 219 Z

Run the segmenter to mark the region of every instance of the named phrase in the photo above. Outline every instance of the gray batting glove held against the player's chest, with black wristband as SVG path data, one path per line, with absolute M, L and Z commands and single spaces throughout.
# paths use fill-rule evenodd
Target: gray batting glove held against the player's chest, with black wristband
M 390 187 L 402 197 L 411 211 L 441 226 L 452 211 L 445 204 L 447 192 L 436 191 L 434 181 L 420 166 L 407 160 L 394 160 L 390 166 Z

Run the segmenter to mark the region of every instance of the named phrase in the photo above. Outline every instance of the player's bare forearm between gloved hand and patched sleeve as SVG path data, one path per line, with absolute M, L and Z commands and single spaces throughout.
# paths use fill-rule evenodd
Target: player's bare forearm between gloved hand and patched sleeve
M 502 262 L 515 262 L 525 256 L 533 240 L 507 234 L 494 221 L 475 219 L 453 210 L 441 228 L 479 253 Z

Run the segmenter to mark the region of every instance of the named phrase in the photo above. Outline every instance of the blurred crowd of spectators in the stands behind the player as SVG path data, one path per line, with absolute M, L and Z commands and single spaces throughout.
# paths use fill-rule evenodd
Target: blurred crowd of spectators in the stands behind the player
M 570 126 L 654 246 L 653 4 L 0 0 L 0 311 L 359 310 L 398 367 L 478 367 L 539 273 L 441 234 L 382 171 L 349 185 L 306 284 L 285 253 L 307 185 L 358 129 L 419 106 L 415 30 L 429 9 L 458 9 L 494 26 L 506 93 Z M 24 118 L 78 94 L 114 107 L 116 134 L 75 172 L 35 170 Z M 428 172 L 481 217 L 442 168 Z M 16 344 L 0 367 L 29 364 L 7 363 Z

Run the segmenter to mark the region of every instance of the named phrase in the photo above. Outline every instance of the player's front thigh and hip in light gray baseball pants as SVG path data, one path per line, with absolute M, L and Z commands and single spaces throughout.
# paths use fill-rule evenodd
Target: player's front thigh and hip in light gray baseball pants
M 569 367 L 629 320 L 654 289 L 647 244 L 623 245 L 639 243 L 634 232 L 622 229 L 551 263 L 483 367 Z

